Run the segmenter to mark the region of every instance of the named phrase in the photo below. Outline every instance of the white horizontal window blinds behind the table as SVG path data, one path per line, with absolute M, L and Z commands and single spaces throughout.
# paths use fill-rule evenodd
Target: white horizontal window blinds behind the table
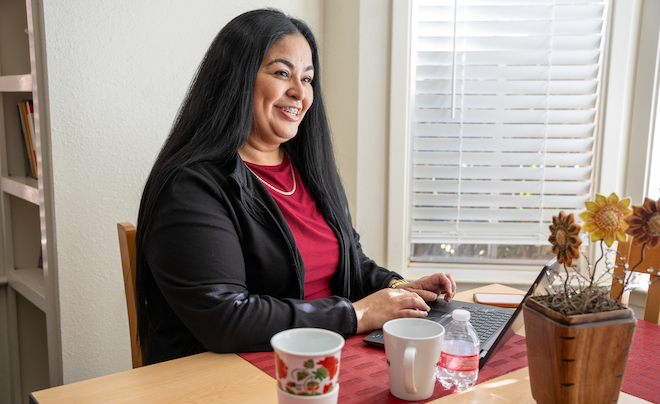
M 411 242 L 547 244 L 590 199 L 607 1 L 457 3 L 413 3 Z

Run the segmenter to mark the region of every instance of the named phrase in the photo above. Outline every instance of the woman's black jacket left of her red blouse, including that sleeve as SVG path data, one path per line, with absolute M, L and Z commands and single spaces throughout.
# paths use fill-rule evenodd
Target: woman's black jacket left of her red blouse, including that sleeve
M 172 321 L 180 320 L 215 352 L 270 350 L 275 333 L 296 327 L 353 335 L 351 302 L 338 296 L 299 299 L 288 252 L 273 244 L 271 230 L 240 210 L 227 186 L 205 170 L 186 169 L 159 197 L 145 255 L 178 317 Z M 254 253 L 257 248 L 264 253 Z

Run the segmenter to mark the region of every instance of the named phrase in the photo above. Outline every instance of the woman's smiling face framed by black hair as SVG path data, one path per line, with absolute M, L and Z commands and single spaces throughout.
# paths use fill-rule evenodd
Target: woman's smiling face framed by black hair
M 254 117 L 250 137 L 277 146 L 293 139 L 314 91 L 312 51 L 302 35 L 287 35 L 270 47 L 254 83 Z

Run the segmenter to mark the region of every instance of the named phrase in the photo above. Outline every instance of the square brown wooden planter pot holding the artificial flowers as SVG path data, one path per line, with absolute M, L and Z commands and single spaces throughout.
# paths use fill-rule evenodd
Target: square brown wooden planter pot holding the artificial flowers
M 563 317 L 528 297 L 523 315 L 537 403 L 618 400 L 637 325 L 632 310 Z

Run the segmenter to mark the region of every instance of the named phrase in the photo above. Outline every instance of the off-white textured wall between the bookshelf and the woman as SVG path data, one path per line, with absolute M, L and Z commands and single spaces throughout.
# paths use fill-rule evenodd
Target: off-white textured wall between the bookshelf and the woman
M 218 30 L 263 6 L 323 42 L 322 0 L 45 0 L 64 382 L 130 369 L 116 223 Z

